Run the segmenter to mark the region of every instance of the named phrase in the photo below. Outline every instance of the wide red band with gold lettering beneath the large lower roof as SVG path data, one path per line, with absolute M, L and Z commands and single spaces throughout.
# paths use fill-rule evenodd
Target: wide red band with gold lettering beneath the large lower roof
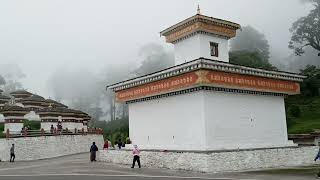
M 124 102 L 200 85 L 283 94 L 300 93 L 299 83 L 293 81 L 219 71 L 198 70 L 117 91 L 116 98 L 117 101 Z

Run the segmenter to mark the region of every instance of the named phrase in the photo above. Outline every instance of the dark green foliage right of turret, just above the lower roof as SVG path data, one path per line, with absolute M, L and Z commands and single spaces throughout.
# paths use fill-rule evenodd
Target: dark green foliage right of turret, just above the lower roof
M 268 61 L 265 61 L 259 52 L 235 51 L 229 53 L 229 60 L 232 64 L 261 68 L 266 70 L 277 70 Z

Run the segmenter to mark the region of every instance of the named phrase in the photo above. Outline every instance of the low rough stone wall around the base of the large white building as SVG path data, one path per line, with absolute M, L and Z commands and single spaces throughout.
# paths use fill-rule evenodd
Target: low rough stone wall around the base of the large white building
M 311 165 L 317 152 L 318 147 L 211 153 L 142 151 L 141 163 L 143 167 L 214 173 Z M 132 154 L 131 151 L 102 150 L 99 160 L 129 166 Z

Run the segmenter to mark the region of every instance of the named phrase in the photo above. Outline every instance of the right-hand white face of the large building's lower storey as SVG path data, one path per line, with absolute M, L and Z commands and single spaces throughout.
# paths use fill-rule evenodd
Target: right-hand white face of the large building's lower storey
M 205 92 L 209 150 L 292 146 L 284 97 Z

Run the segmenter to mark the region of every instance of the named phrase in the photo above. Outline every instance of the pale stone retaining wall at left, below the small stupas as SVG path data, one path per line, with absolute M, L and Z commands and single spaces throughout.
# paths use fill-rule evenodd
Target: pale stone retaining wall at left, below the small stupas
M 103 141 L 102 135 L 62 135 L 0 139 L 0 159 L 9 161 L 12 144 L 15 144 L 16 160 L 28 161 L 89 152 L 92 142 L 96 142 L 98 148 L 102 148 Z

